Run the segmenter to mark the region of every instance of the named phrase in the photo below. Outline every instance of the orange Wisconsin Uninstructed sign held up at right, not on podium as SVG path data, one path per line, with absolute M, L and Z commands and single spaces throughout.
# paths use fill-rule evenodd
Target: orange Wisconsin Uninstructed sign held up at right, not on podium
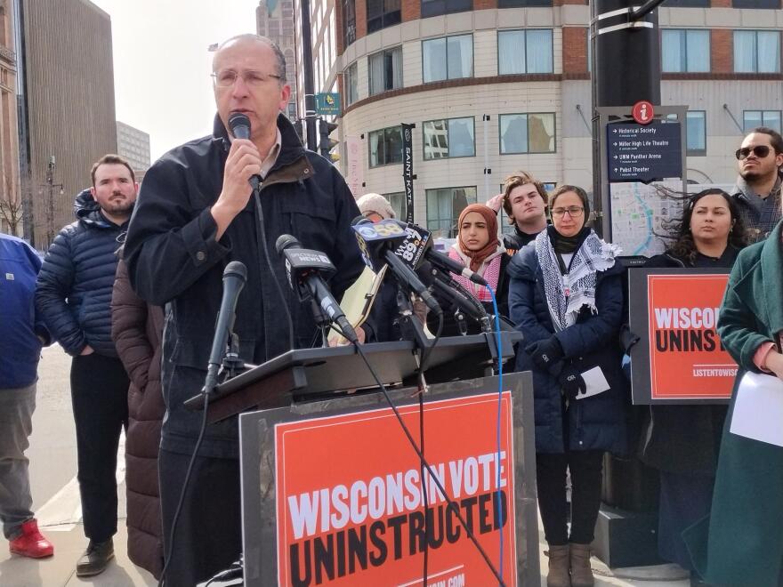
M 641 338 L 631 355 L 635 404 L 731 398 L 738 367 L 717 333 L 728 277 L 714 269 L 631 269 L 631 330 Z

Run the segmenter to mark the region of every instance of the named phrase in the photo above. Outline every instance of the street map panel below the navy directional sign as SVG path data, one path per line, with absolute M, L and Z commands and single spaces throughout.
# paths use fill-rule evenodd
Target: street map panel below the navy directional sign
M 611 241 L 623 255 L 663 253 L 666 222 L 682 213 L 682 202 L 666 197 L 663 189 L 682 191 L 682 181 L 655 181 L 650 185 L 627 181 L 609 184 L 611 197 Z

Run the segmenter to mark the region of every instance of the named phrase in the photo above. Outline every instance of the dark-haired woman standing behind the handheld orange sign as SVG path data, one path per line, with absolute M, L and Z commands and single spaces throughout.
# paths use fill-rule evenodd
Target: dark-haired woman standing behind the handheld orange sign
M 671 245 L 645 267 L 731 268 L 746 244 L 739 207 L 722 189 L 690 197 L 671 222 Z M 712 502 L 725 405 L 650 406 L 642 429 L 642 461 L 660 475 L 658 555 L 693 573 L 682 531 L 706 516 Z

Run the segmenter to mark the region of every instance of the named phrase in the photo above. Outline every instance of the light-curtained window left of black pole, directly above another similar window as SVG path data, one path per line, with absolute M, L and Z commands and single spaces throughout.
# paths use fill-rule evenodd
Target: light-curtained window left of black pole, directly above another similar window
M 552 29 L 497 31 L 497 73 L 552 73 Z

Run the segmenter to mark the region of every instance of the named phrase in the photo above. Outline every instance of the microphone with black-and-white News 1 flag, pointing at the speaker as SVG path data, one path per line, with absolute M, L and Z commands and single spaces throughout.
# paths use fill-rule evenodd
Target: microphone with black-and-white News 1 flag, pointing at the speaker
M 280 235 L 275 248 L 278 254 L 286 261 L 286 273 L 288 285 L 299 294 L 299 299 L 304 301 L 310 296 L 319 304 L 327 317 L 340 327 L 343 336 L 351 342 L 359 342 L 356 331 L 351 326 L 348 318 L 345 318 L 343 309 L 337 303 L 329 291 L 324 278 L 321 275 L 331 276 L 335 273 L 335 266 L 326 254 L 311 249 L 303 249 L 302 243 L 291 235 Z

